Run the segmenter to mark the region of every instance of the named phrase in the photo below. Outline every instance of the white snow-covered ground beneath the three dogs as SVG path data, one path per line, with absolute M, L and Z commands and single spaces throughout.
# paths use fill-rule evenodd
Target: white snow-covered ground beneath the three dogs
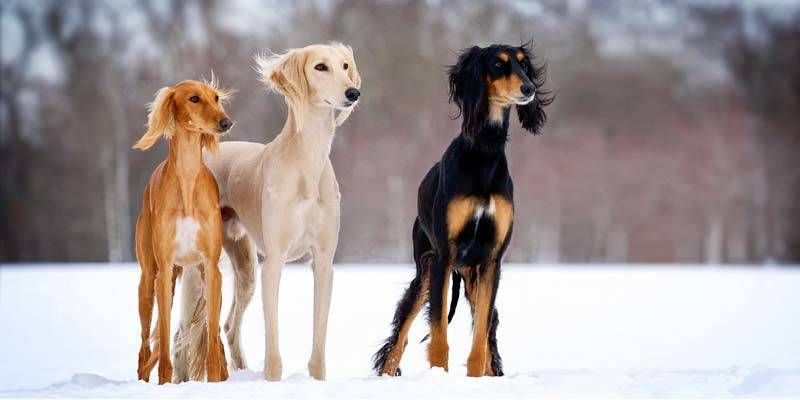
M 498 307 L 507 376 L 472 379 L 463 303 L 449 374 L 428 369 L 420 318 L 404 376 L 372 376 L 370 357 L 413 268 L 339 265 L 328 381 L 317 382 L 305 367 L 311 272 L 292 265 L 280 293 L 282 382 L 258 372 L 257 289 L 243 329 L 253 371 L 165 386 L 136 381 L 138 273 L 133 264 L 0 266 L 0 397 L 800 398 L 800 269 L 506 265 Z M 224 318 L 231 272 L 223 274 Z

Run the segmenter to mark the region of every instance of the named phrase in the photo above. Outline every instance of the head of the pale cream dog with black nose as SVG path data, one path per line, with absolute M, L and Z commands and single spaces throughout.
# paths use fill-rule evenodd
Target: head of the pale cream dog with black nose
M 261 81 L 286 96 L 298 131 L 303 128 L 307 107 L 339 110 L 336 124 L 341 125 L 361 96 L 361 76 L 353 58 L 353 49 L 341 43 L 317 44 L 291 49 L 283 54 L 257 56 L 256 64 Z

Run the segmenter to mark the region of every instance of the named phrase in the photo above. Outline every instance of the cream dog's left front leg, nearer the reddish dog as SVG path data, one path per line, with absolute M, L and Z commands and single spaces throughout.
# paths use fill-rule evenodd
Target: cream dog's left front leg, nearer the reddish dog
M 272 252 L 264 260 L 261 270 L 261 299 L 264 305 L 264 377 L 268 381 L 279 381 L 283 374 L 283 363 L 278 349 L 278 288 L 281 280 L 283 260 Z

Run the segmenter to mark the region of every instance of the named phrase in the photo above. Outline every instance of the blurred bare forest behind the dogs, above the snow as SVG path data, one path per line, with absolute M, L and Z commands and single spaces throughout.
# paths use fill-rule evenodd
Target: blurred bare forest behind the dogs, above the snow
M 800 262 L 797 1 L 0 1 L 0 261 L 133 260 L 167 144 L 131 150 L 160 87 L 213 70 L 232 140 L 285 105 L 252 56 L 339 40 L 363 97 L 332 151 L 338 261 L 411 260 L 416 190 L 458 132 L 445 66 L 535 40 L 556 93 L 509 144 L 516 262 Z

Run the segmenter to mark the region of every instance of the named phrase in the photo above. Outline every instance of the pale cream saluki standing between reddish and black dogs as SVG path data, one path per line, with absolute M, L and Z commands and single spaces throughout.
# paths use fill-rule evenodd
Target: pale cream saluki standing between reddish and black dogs
M 339 43 L 292 49 L 258 58 L 257 63 L 261 80 L 285 96 L 289 112 L 283 130 L 266 145 L 227 142 L 220 145 L 217 155 L 204 156 L 219 184 L 223 246 L 235 276 L 225 331 L 233 367 L 246 368 L 239 331 L 253 295 L 257 248 L 265 257 L 261 273 L 264 375 L 267 380 L 280 380 L 281 269 L 287 261 L 310 254 L 314 335 L 308 372 L 322 380 L 341 198 L 329 155 L 335 127 L 347 119 L 358 101 L 361 77 L 352 49 Z M 335 110 L 339 111 L 336 117 Z

